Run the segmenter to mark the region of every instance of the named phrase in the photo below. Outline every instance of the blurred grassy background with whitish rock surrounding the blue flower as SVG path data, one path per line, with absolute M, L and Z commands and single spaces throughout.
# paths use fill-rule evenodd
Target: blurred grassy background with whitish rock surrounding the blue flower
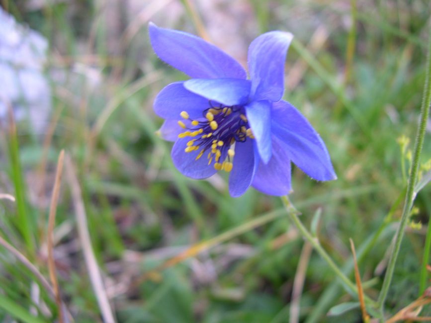
M 224 173 L 195 181 L 174 168 L 152 102 L 187 77 L 158 60 L 147 26 L 208 37 L 244 65 L 259 34 L 294 34 L 284 99 L 320 133 L 338 180 L 293 168 L 290 200 L 352 281 L 353 240 L 376 299 L 421 106 L 428 0 L 0 3 L 1 322 L 362 322 L 278 198 L 234 199 Z M 418 297 L 430 193 L 417 197 L 388 314 Z

